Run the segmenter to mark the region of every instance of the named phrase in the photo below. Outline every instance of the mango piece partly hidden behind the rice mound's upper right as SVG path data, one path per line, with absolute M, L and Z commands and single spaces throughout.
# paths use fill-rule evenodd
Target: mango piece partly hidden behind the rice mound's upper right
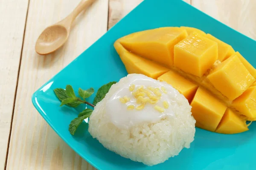
M 180 76 L 172 70 L 168 71 L 157 79 L 172 85 L 172 87 L 176 88 L 181 94 L 186 97 L 186 99 L 188 99 L 189 103 L 192 101 L 198 88 L 198 85 L 189 81 L 188 79 L 185 79 L 184 77 Z

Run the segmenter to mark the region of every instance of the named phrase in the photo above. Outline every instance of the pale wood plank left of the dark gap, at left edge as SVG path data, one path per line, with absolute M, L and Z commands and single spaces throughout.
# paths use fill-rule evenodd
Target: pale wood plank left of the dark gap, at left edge
M 0 3 L 0 169 L 4 169 L 28 0 Z

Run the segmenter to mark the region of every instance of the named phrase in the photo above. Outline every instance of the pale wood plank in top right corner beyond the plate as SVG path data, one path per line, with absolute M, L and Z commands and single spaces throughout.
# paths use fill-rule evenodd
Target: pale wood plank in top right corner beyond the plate
M 255 0 L 192 0 L 192 6 L 256 40 Z

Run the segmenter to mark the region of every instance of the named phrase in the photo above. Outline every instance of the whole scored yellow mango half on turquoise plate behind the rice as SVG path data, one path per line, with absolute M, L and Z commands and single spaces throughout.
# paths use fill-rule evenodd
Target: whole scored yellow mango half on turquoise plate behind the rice
M 165 81 L 183 94 L 197 127 L 234 134 L 256 120 L 256 69 L 216 37 L 163 27 L 121 37 L 114 47 L 128 74 Z

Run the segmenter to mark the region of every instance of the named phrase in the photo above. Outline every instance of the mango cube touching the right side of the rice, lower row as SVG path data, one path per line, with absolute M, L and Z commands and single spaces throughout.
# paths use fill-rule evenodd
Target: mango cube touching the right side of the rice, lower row
M 205 130 L 215 131 L 227 106 L 218 101 L 203 88 L 198 88 L 191 104 L 192 116 L 194 116 L 197 127 Z

